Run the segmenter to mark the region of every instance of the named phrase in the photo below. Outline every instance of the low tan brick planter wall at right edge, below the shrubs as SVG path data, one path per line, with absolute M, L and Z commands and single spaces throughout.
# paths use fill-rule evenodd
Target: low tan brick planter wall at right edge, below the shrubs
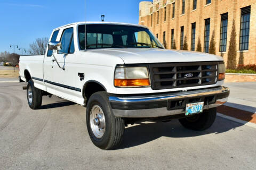
M 225 82 L 256 82 L 256 74 L 226 73 Z

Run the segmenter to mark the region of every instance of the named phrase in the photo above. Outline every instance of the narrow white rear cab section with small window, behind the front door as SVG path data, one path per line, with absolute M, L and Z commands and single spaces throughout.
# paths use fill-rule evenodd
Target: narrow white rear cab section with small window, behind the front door
M 55 30 L 52 33 L 51 41 L 56 41 L 58 37 L 58 33 L 60 30 Z M 47 47 L 48 49 L 48 47 Z M 47 54 L 44 57 L 44 63 L 43 63 L 43 72 L 44 72 L 44 83 L 46 86 L 46 91 L 49 92 L 52 95 L 55 95 L 55 86 L 53 83 L 53 57 L 52 57 L 53 50 L 47 50 Z

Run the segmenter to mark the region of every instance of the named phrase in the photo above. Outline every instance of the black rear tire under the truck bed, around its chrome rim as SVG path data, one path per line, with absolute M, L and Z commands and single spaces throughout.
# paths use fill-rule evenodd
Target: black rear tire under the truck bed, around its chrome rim
M 32 95 L 31 101 L 29 100 L 29 92 L 32 92 L 32 94 L 30 94 Z M 27 100 L 29 107 L 33 110 L 39 109 L 42 106 L 42 91 L 40 89 L 35 88 L 33 80 L 28 81 Z

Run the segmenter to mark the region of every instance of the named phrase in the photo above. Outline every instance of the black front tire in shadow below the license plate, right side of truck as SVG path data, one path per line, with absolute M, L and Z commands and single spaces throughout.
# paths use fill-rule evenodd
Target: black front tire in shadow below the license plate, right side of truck
M 203 131 L 212 126 L 217 114 L 216 108 L 205 110 L 202 114 L 197 114 L 191 117 L 180 118 L 179 121 L 187 129 L 195 131 Z

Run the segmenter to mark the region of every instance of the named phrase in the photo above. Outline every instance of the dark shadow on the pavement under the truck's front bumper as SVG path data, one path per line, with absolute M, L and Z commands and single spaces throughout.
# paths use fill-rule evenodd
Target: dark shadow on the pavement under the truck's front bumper
M 172 120 L 168 123 L 150 122 L 140 123 L 139 125 L 125 128 L 124 139 L 118 149 L 130 148 L 151 142 L 161 137 L 170 138 L 188 138 L 197 137 L 205 134 L 218 134 L 234 130 L 243 124 L 236 123 L 225 118 L 216 117 L 216 120 L 210 129 L 205 131 L 193 131 L 183 128 L 178 120 Z

